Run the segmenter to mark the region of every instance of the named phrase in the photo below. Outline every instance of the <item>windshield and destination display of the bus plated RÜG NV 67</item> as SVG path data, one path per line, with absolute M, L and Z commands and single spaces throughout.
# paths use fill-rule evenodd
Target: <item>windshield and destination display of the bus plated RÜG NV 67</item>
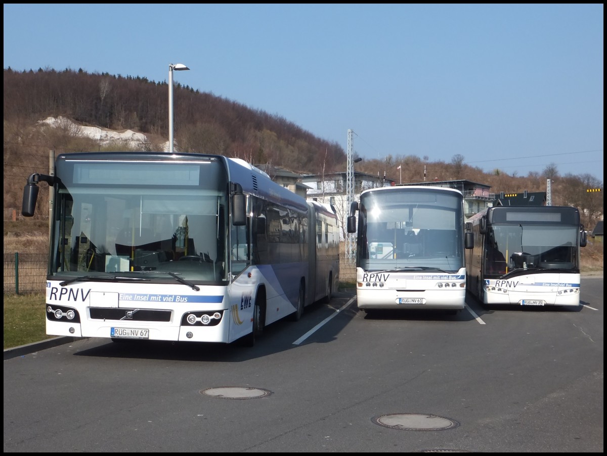
M 227 178 L 217 177 L 226 174 L 218 163 L 120 163 L 121 179 L 103 163 L 63 166 L 52 275 L 226 279 Z

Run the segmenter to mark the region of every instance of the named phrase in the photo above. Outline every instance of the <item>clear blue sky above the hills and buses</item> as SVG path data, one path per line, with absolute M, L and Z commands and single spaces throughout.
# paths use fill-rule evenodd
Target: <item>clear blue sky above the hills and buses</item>
M 171 63 L 363 158 L 603 181 L 603 4 L 4 4 L 5 69 Z

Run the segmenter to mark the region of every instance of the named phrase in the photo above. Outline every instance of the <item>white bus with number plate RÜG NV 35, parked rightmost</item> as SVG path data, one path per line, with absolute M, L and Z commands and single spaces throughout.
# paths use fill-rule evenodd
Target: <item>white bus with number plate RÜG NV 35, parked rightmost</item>
M 468 289 L 481 304 L 580 306 L 580 247 L 586 232 L 575 207 L 497 206 L 468 220 Z

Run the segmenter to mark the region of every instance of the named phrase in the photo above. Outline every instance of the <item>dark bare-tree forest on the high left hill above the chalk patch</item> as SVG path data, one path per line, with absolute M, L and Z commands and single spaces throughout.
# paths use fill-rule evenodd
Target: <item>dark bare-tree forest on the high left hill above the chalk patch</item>
M 320 153 L 327 169 L 345 164 L 339 144 L 317 138 L 287 119 L 179 83 L 173 95 L 178 113 L 174 136 L 181 152 L 239 156 L 288 165 L 296 172 L 320 172 Z M 5 69 L 4 121 L 33 124 L 49 116 L 110 130 L 130 129 L 164 143 L 169 136 L 168 84 L 82 70 Z M 151 149 L 158 149 L 154 146 Z

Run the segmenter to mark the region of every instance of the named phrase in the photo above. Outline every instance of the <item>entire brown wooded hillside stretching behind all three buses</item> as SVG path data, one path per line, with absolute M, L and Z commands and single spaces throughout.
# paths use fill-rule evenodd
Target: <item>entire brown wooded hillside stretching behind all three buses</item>
M 244 106 L 237 101 L 199 92 L 178 82 L 174 87 L 174 137 L 181 152 L 213 153 L 242 158 L 249 163 L 266 163 L 297 173 L 345 172 L 347 156 L 338 143 L 317 138 L 277 115 Z M 178 115 L 177 115 L 178 113 Z M 146 78 L 91 74 L 83 70 L 4 70 L 4 209 L 21 207 L 22 189 L 33 172 L 49 166 L 49 150 L 56 153 L 95 150 L 127 150 L 124 144 L 101 146 L 82 138 L 66 122 L 59 127 L 42 126 L 48 117 L 64 117 L 83 126 L 115 131 L 133 130 L 149 140 L 145 150 L 163 150 L 168 141 L 168 84 Z M 358 126 L 360 128 L 361 126 Z M 347 132 L 340 132 L 344 135 Z M 401 170 L 397 167 L 401 165 Z M 592 223 L 602 216 L 602 193 L 591 196 L 586 189 L 602 187 L 590 175 L 559 175 L 555 166 L 543 173 L 510 175 L 492 173 L 466 164 L 456 154 L 450 162 L 430 162 L 428 157 L 388 155 L 364 159 L 356 170 L 384 175 L 403 183 L 421 182 L 424 172 L 430 180 L 467 179 L 486 184 L 492 191 L 546 191 L 552 184 L 553 204 L 586 210 Z M 558 178 L 557 178 L 558 177 Z M 41 187 L 44 192 L 44 186 Z M 5 220 L 6 214 L 5 214 Z M 589 225 L 587 225 L 589 226 Z M 594 225 L 592 225 L 594 226 Z

